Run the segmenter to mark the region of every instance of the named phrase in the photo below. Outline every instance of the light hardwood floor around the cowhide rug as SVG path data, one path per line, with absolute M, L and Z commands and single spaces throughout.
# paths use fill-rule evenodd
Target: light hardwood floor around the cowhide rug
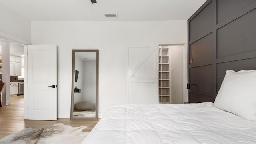
M 90 132 L 97 124 L 98 120 L 70 120 L 69 118 L 61 118 L 57 121 L 47 120 L 24 120 L 24 98 L 21 96 L 13 96 L 10 98 L 11 104 L 0 108 L 0 138 L 19 132 L 24 128 L 45 128 L 52 126 L 58 122 L 72 127 L 87 126 L 83 132 Z

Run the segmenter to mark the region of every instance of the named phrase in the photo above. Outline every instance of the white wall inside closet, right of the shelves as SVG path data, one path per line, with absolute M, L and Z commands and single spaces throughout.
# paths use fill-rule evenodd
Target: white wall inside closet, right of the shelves
M 184 46 L 169 46 L 171 67 L 171 96 L 172 103 L 183 103 L 183 50 Z

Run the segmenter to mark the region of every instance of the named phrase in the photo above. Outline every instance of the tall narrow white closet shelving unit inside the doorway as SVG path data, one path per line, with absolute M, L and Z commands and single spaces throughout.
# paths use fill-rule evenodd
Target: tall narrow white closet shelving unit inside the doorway
M 169 48 L 158 48 L 158 71 L 159 71 L 159 102 L 170 103 L 170 64 Z

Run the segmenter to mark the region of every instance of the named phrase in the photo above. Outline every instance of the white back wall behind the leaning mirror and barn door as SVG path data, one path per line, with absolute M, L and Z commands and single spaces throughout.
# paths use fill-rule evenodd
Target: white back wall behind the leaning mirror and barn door
M 72 49 L 99 49 L 99 117 L 125 103 L 126 42 L 186 44 L 187 21 L 34 21 L 33 44 L 58 45 L 58 118 L 70 117 Z

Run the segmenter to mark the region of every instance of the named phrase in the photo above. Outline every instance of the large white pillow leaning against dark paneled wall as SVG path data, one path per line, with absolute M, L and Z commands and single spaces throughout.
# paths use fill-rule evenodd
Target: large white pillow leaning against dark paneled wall
M 256 70 L 227 70 L 214 106 L 256 122 Z

